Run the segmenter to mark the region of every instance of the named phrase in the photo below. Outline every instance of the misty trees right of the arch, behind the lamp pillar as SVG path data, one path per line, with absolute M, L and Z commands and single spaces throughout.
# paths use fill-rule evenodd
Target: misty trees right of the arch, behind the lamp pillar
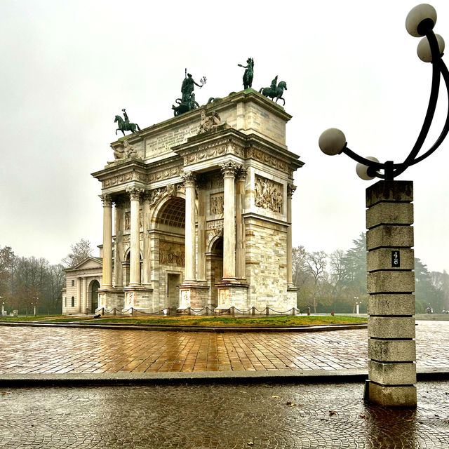
M 307 251 L 304 246 L 293 248 L 293 283 L 299 288 L 297 307 L 311 307 L 314 312 L 353 313 L 356 302 L 366 313 L 366 234 L 353 240 L 352 248 Z M 415 258 L 415 308 L 424 313 L 432 307 L 436 313 L 449 309 L 449 274 L 429 272 Z

